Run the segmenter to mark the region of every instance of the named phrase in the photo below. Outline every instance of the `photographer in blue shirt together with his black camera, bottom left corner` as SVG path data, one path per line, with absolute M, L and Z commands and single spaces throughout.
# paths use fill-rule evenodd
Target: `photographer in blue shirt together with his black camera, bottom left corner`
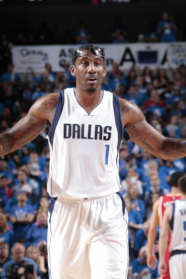
M 1 279 L 10 279 L 10 278 L 36 279 L 37 278 L 37 277 L 33 277 L 35 276 L 34 273 L 37 275 L 37 265 L 32 259 L 29 259 L 24 256 L 25 246 L 22 243 L 16 242 L 13 245 L 11 249 L 11 255 L 12 255 L 12 260 L 9 260 L 3 265 Z M 29 274 L 32 274 L 32 276 Z

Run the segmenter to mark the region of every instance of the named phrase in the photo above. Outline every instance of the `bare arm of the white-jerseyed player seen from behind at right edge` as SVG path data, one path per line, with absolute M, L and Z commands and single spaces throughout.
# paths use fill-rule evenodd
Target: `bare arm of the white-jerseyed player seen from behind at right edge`
M 166 253 L 167 241 L 168 241 L 168 237 L 169 237 L 169 230 L 170 230 L 169 220 L 171 219 L 171 214 L 172 214 L 172 205 L 169 205 L 163 214 L 162 228 L 161 228 L 160 237 L 159 237 L 158 272 L 161 276 L 163 276 L 163 274 L 167 270 L 167 265 L 165 264 L 165 253 Z

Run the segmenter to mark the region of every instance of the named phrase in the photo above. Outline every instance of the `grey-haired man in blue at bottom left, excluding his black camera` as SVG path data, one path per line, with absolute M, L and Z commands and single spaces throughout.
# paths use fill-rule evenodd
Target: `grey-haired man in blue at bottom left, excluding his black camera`
M 6 277 L 6 269 L 11 267 L 13 264 L 20 263 L 21 261 L 33 264 L 34 272 L 37 274 L 37 265 L 30 259 L 25 257 L 25 246 L 22 243 L 16 242 L 11 249 L 12 259 L 3 264 L 3 270 L 1 272 L 1 278 L 8 279 Z M 35 278 L 34 278 L 35 279 Z

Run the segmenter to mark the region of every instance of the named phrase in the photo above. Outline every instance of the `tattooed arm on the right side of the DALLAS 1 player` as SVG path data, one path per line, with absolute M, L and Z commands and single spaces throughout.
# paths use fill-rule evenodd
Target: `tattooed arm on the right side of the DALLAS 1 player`
M 131 140 L 161 159 L 186 155 L 186 140 L 167 138 L 147 123 L 143 112 L 133 102 L 120 99 L 121 119 Z

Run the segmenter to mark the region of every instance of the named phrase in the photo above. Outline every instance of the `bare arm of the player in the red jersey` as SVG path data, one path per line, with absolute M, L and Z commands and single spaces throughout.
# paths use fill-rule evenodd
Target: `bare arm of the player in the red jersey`
M 157 227 L 158 227 L 158 206 L 159 206 L 159 199 L 155 201 L 152 208 L 152 215 L 150 219 L 150 226 L 147 235 L 147 245 L 148 245 L 148 255 L 147 255 L 147 265 L 151 269 L 156 269 L 157 266 L 157 258 L 153 251 L 154 242 L 156 239 L 157 234 Z

